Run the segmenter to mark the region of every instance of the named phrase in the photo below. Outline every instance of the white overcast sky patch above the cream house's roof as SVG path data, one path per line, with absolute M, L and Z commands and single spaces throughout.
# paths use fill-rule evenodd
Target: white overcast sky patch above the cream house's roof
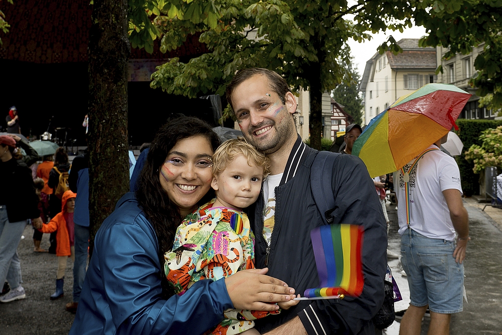
M 394 36 L 396 41 L 403 38 L 421 38 L 425 35 L 425 28 L 413 26 L 412 28 L 405 29 L 403 33 L 399 31 L 393 32 L 392 30 L 389 30 L 387 33 L 380 32 L 378 34 L 372 34 L 373 38 L 363 43 L 357 43 L 349 39 L 348 45 L 350 46 L 352 57 L 354 57 L 353 63 L 361 76 L 364 72 L 366 61 L 375 54 L 376 48 L 384 43 L 391 35 Z

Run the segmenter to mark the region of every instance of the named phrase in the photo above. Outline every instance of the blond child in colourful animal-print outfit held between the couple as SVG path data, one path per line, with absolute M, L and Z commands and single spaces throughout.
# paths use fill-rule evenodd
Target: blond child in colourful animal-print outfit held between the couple
M 165 254 L 167 279 L 176 293 L 183 294 L 201 279 L 218 280 L 255 268 L 255 236 L 242 208 L 258 198 L 269 166 L 269 159 L 243 140 L 228 140 L 216 150 L 211 181 L 216 198 L 187 215 L 176 231 L 173 250 Z M 287 309 L 297 303 L 291 299 L 279 306 Z M 268 314 L 228 309 L 225 319 L 206 333 L 259 334 L 253 320 Z

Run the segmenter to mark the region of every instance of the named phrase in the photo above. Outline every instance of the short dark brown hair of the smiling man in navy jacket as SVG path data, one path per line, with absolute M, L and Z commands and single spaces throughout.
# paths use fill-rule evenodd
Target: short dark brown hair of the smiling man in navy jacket
M 247 79 L 256 76 L 265 75 L 269 79 L 270 89 L 276 92 L 281 98 L 283 103 L 286 103 L 286 93 L 291 92 L 286 80 L 275 71 L 267 70 L 260 67 L 250 67 L 247 69 L 241 69 L 233 76 L 232 80 L 228 85 L 226 85 L 226 99 L 233 109 L 232 105 L 232 93 L 235 87 L 240 85 Z

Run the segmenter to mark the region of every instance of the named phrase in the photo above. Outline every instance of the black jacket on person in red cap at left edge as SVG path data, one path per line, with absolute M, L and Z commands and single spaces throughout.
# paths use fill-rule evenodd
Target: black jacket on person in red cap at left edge
M 0 171 L 2 192 L 8 193 L 5 205 L 9 222 L 40 217 L 31 169 L 22 160 L 13 158 L 7 162 L 0 161 Z

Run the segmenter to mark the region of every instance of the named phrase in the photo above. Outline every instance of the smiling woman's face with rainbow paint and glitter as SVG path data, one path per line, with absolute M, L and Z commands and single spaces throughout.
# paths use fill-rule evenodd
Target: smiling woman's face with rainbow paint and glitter
M 213 150 L 202 135 L 179 140 L 159 169 L 162 188 L 178 206 L 182 217 L 195 210 L 211 187 Z

